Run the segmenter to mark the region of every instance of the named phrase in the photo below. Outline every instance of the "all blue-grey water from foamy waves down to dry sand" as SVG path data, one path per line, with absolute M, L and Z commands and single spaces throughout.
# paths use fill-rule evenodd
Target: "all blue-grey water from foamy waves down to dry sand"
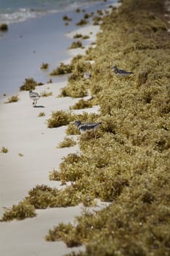
M 62 80 L 62 76 L 50 76 L 61 61 L 68 59 L 68 48 L 74 39 L 66 37 L 79 29 L 76 23 L 84 12 L 106 9 L 117 0 L 0 0 L 0 23 L 8 23 L 7 32 L 0 31 L 0 97 L 16 94 L 26 78 L 47 83 Z M 72 18 L 65 25 L 63 15 Z M 82 40 L 82 45 L 88 40 Z M 40 69 L 42 63 L 50 66 Z

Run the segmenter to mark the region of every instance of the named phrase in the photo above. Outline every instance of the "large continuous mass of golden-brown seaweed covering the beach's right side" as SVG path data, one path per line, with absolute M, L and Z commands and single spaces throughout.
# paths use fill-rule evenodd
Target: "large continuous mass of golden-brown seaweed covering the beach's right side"
M 95 198 L 110 203 L 85 212 L 74 225 L 50 229 L 47 241 L 85 244 L 85 252 L 72 256 L 169 255 L 170 34 L 164 14 L 161 0 L 126 0 L 112 9 L 102 19 L 96 48 L 86 51 L 86 60 L 95 61 L 92 79 L 83 83 L 80 72 L 69 81 L 90 90 L 100 113 L 59 113 L 59 121 L 54 113 L 49 121 L 49 127 L 68 125 L 70 132 L 76 119 L 103 123 L 80 135 L 81 153 L 64 157 L 51 173 L 71 185 L 60 191 L 41 185 L 26 198 L 34 208 L 89 206 Z M 114 64 L 134 76 L 117 77 Z

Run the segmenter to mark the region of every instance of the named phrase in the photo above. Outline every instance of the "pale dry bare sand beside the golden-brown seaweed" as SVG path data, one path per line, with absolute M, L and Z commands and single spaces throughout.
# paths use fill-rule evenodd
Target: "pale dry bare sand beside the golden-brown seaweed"
M 69 37 L 76 33 L 89 34 L 93 31 L 89 40 L 91 42 L 96 39 L 98 29 L 98 26 L 85 26 L 69 33 Z M 69 50 L 69 53 L 70 56 L 75 56 L 85 53 L 85 49 Z M 70 59 L 64 62 L 69 61 Z M 66 83 L 65 80 L 37 87 L 38 93 L 53 91 L 53 95 L 41 97 L 36 108 L 31 105 L 28 91 L 19 92 L 20 100 L 15 103 L 4 104 L 7 98 L 0 100 L 0 149 L 4 146 L 9 150 L 7 154 L 0 154 L 0 215 L 3 214 L 4 206 L 17 204 L 36 184 L 61 188 L 60 182 L 48 180 L 49 171 L 58 168 L 63 156 L 74 153 L 79 148 L 56 148 L 66 136 L 66 127 L 49 129 L 46 121 L 52 111 L 69 110 L 69 106 L 79 100 L 58 97 L 60 89 L 66 86 Z M 86 111 L 97 110 L 96 106 Z M 44 112 L 45 116 L 38 117 L 40 112 Z M 18 155 L 20 153 L 23 157 Z M 73 222 L 74 217 L 81 212 L 82 206 L 48 208 L 36 211 L 37 216 L 31 219 L 0 222 L 0 255 L 65 255 L 70 249 L 63 242 L 47 242 L 44 237 L 54 225 L 59 222 Z

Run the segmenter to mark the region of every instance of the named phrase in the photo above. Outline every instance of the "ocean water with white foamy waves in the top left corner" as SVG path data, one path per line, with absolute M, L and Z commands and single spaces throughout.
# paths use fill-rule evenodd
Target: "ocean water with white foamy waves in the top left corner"
M 98 0 L 0 0 L 0 23 L 18 23 L 50 13 L 90 6 Z

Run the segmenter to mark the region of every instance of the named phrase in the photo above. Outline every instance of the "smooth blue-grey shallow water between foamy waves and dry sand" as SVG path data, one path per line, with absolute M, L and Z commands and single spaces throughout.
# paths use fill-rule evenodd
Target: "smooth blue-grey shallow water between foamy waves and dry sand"
M 6 2 L 6 1 L 5 1 Z M 17 3 L 19 1 L 16 1 Z M 20 1 L 21 2 L 21 1 Z M 30 1 L 29 1 L 30 2 Z M 38 2 L 36 0 L 35 2 Z M 50 1 L 51 2 L 51 1 Z M 63 2 L 63 1 L 62 1 Z M 69 1 L 67 1 L 69 3 Z M 72 1 L 74 3 L 78 1 Z M 85 3 L 85 1 L 80 1 Z M 86 1 L 85 12 L 106 9 L 115 0 Z M 89 3 L 92 3 L 90 4 Z M 1 3 L 1 0 L 0 0 Z M 63 15 L 72 18 L 69 26 L 65 25 Z M 61 11 L 30 18 L 22 23 L 12 23 L 9 30 L 0 33 L 0 97 L 3 94 L 15 94 L 23 85 L 25 78 L 34 78 L 36 82 L 47 83 L 62 78 L 50 77 L 49 73 L 64 59 L 68 59 L 67 49 L 73 39 L 66 33 L 78 29 L 75 24 L 83 18 L 84 12 Z M 82 45 L 87 41 L 82 41 Z M 43 62 L 50 64 L 47 71 L 39 69 Z

